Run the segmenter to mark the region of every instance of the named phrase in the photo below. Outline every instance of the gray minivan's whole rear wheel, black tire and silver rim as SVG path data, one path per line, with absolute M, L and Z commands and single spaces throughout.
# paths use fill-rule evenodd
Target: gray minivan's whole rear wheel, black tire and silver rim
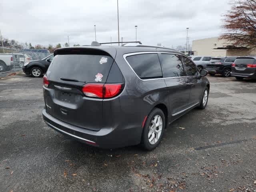
M 143 128 L 141 145 L 145 150 L 151 151 L 156 148 L 162 140 L 166 119 L 164 112 L 159 108 L 154 108 Z

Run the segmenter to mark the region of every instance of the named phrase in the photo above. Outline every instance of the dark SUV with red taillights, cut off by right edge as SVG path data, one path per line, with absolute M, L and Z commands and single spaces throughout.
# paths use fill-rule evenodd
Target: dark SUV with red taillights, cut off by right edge
M 237 80 L 256 79 L 256 56 L 237 58 L 232 64 L 231 76 L 236 77 Z

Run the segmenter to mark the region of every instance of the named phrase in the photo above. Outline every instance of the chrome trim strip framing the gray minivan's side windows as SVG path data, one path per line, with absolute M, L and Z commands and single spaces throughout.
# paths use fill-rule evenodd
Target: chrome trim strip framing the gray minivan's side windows
M 160 79 L 174 79 L 174 78 L 182 78 L 182 77 L 197 77 L 197 76 L 180 76 L 180 77 L 162 77 L 162 78 L 152 78 L 152 79 L 141 79 L 136 72 L 133 70 L 132 66 L 130 66 L 129 62 L 126 60 L 126 57 L 132 56 L 132 55 L 140 55 L 140 54 L 149 54 L 149 53 L 164 53 L 164 54 L 176 54 L 181 55 L 179 53 L 174 52 L 162 52 L 162 51 L 144 51 L 144 52 L 134 52 L 134 53 L 127 53 L 123 55 L 124 60 L 128 64 L 128 66 L 131 68 L 131 70 L 134 72 L 134 74 L 141 80 L 141 81 L 152 81 L 152 80 L 160 80 Z

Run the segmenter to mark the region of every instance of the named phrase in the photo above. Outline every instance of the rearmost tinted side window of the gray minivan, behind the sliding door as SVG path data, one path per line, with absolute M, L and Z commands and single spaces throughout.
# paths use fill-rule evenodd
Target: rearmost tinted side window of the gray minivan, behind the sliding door
M 126 60 L 140 78 L 162 77 L 157 53 L 132 55 Z

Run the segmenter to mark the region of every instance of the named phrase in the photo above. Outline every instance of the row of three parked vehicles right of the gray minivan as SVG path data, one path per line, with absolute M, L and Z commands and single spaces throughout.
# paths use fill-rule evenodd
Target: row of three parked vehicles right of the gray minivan
M 212 76 L 221 74 L 223 77 L 234 76 L 237 80 L 256 78 L 256 56 L 189 56 L 199 70 L 206 69 Z

